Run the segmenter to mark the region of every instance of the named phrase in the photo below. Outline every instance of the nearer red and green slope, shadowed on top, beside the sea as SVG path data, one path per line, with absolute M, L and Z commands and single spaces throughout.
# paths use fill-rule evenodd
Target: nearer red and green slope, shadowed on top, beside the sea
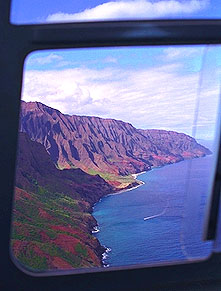
M 102 266 L 91 206 L 113 188 L 81 170 L 58 170 L 41 144 L 20 134 L 11 248 L 29 270 Z

